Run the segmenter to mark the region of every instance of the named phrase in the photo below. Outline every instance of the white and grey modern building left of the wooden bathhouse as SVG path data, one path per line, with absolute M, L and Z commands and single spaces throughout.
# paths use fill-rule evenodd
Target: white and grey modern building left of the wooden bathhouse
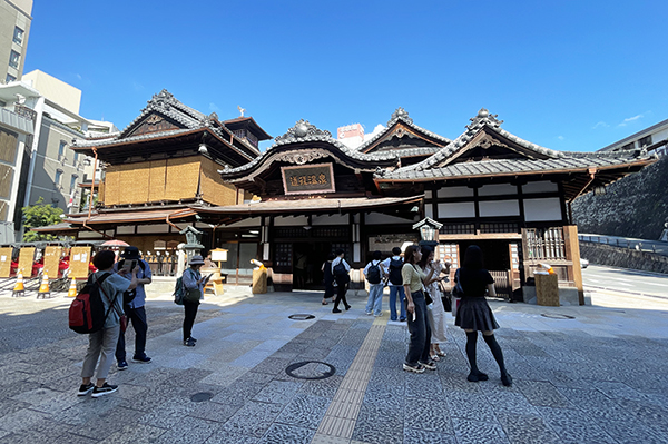
M 66 211 L 80 209 L 79 184 L 92 179 L 94 166 L 70 149 L 72 141 L 118 131 L 110 122 L 79 116 L 80 98 L 79 89 L 41 71 L 0 85 L 4 126 L 0 191 L 6 191 L 0 193 L 0 200 L 7 198 L 3 220 L 13 223 L 17 239 L 21 237 L 21 207 L 36 204 L 40 197 Z M 12 157 L 12 152 L 17 155 Z

